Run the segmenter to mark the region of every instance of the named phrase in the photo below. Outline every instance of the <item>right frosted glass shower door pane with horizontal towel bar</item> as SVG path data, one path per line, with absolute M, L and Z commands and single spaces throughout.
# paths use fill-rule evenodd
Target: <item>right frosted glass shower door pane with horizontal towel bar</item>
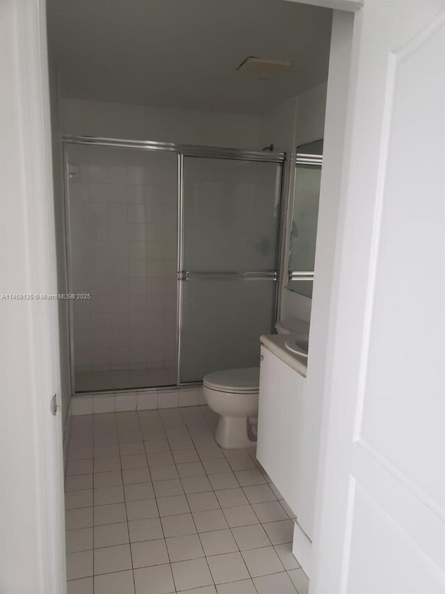
M 184 157 L 179 380 L 259 365 L 273 328 L 282 165 Z

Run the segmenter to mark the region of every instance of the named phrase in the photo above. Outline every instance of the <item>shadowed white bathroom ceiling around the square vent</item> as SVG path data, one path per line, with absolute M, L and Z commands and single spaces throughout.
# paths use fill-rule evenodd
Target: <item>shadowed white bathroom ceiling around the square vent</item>
M 64 97 L 261 114 L 327 79 L 332 11 L 282 0 L 48 0 Z M 293 62 L 236 72 L 248 56 Z

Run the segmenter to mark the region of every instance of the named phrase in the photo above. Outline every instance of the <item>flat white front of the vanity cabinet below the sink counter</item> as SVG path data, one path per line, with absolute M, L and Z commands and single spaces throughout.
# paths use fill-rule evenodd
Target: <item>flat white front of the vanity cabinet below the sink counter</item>
M 298 515 L 306 378 L 261 346 L 257 458 Z

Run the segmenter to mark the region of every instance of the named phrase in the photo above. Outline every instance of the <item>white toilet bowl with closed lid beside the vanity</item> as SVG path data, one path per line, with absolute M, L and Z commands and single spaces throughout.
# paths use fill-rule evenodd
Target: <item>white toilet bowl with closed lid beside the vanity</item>
M 207 404 L 220 415 L 215 434 L 218 444 L 228 449 L 253 446 L 249 419 L 258 416 L 259 367 L 209 373 L 203 384 Z

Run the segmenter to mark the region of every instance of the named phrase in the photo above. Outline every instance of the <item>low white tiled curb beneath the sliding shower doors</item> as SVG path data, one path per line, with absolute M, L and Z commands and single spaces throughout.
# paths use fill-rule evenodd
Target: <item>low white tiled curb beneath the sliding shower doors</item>
M 199 387 L 171 391 L 135 390 L 120 393 L 83 394 L 72 398 L 72 415 L 189 407 L 205 403 L 202 388 Z

